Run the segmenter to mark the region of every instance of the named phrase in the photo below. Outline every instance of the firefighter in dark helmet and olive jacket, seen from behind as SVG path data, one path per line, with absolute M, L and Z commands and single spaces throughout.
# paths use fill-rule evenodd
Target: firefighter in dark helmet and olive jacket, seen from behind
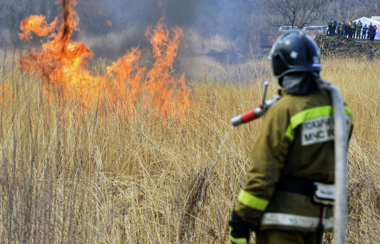
M 316 185 L 334 183 L 334 133 L 329 93 L 319 87 L 316 43 L 292 30 L 270 55 L 282 98 L 266 111 L 250 152 L 245 186 L 229 221 L 232 243 L 316 243 L 322 209 L 324 230 L 333 227 L 332 206 L 318 203 Z M 345 106 L 347 121 L 351 112 Z M 333 196 L 332 196 L 333 197 Z M 333 199 L 331 199 L 332 201 Z

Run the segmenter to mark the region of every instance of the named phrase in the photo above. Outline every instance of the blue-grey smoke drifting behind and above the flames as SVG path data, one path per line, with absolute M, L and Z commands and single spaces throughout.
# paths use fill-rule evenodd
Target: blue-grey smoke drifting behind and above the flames
M 169 28 L 183 28 L 174 68 L 195 74 L 203 72 L 206 63 L 223 66 L 243 62 L 241 56 L 251 56 L 250 44 L 259 49 L 256 35 L 265 28 L 257 26 L 262 23 L 257 19 L 264 18 L 260 4 L 258 0 L 78 0 L 75 10 L 80 31 L 73 38 L 84 41 L 95 59 L 115 60 L 134 46 L 149 49 L 144 32 L 164 14 Z M 49 22 L 59 8 L 55 0 L 0 0 L 1 45 L 6 41 L 21 46 L 21 20 L 42 14 Z M 33 41 L 38 43 L 39 38 Z

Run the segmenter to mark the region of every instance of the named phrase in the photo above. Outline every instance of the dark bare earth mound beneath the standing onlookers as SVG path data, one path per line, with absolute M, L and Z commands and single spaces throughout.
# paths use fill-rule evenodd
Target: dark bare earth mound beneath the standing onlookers
M 373 58 L 380 59 L 380 40 L 370 42 L 367 39 L 346 38 L 342 35 L 317 35 L 314 40 L 321 55 L 366 58 L 367 51 L 372 49 Z

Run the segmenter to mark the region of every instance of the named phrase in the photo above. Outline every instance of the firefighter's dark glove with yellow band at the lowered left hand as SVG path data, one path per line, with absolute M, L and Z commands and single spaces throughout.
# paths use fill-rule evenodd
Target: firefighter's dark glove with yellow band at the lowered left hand
M 249 231 L 252 226 L 246 223 L 235 211 L 232 211 L 232 217 L 229 221 L 232 230 L 229 235 L 229 240 L 232 244 L 248 244 Z M 255 229 L 255 228 L 253 228 Z

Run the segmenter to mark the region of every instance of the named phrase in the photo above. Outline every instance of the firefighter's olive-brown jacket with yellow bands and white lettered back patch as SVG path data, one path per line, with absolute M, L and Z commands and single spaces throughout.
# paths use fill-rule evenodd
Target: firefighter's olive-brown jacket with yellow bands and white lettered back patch
M 278 183 L 284 178 L 334 183 L 332 113 L 325 90 L 308 95 L 284 92 L 266 111 L 250 153 L 247 181 L 235 205 L 245 222 L 261 230 L 316 230 L 321 206 L 310 195 L 278 190 Z M 345 114 L 351 130 L 347 106 Z M 332 227 L 332 207 L 328 207 L 324 228 Z

